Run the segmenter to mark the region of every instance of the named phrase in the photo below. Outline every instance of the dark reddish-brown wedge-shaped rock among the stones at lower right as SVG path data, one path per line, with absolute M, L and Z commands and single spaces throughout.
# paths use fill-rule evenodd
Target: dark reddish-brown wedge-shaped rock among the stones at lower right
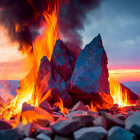
M 124 121 L 115 118 L 113 115 L 111 115 L 109 113 L 106 113 L 106 112 L 102 111 L 101 115 L 106 120 L 107 129 L 110 129 L 113 126 L 120 126 L 120 127 L 124 127 L 125 126 Z

